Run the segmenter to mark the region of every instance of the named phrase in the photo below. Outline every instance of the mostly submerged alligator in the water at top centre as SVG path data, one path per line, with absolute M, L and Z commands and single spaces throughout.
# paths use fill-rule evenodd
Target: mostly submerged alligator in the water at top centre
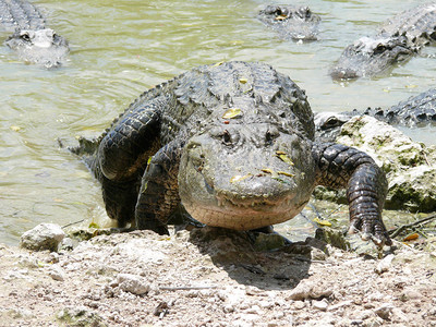
M 292 40 L 316 40 L 320 17 L 308 7 L 267 5 L 257 17 L 277 31 L 281 38 Z

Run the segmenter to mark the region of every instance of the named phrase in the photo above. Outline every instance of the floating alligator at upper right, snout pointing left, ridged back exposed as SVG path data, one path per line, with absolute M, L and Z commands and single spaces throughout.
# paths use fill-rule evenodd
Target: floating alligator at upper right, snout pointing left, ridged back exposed
M 348 46 L 329 74 L 334 80 L 373 77 L 405 62 L 436 40 L 436 3 L 407 10 L 386 21 L 375 36 Z

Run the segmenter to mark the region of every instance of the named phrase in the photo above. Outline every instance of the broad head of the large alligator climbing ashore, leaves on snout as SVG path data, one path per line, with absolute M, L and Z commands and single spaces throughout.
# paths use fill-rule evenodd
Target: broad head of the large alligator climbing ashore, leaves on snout
M 196 220 L 251 230 L 291 219 L 314 185 L 312 142 L 269 123 L 222 124 L 194 135 L 179 194 Z

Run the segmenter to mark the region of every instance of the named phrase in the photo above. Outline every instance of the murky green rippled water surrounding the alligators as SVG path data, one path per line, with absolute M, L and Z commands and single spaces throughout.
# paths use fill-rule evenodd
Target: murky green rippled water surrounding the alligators
M 420 0 L 305 1 L 323 19 L 320 40 L 310 44 L 280 40 L 258 22 L 263 1 L 33 2 L 70 40 L 71 53 L 63 68 L 47 71 L 0 46 L 4 243 L 43 221 L 104 216 L 99 185 L 57 140 L 74 144 L 77 135 L 99 134 L 144 89 L 195 65 L 268 62 L 306 89 L 314 111 L 388 107 L 435 85 L 435 48 L 424 51 L 433 58 L 413 58 L 383 78 L 340 84 L 327 75 L 343 47 Z M 0 32 L 0 39 L 8 35 Z M 412 132 L 435 143 L 432 130 Z

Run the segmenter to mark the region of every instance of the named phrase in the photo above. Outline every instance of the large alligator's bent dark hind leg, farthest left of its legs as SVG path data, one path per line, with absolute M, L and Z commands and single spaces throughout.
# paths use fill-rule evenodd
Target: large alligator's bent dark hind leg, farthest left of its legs
M 159 148 L 160 114 L 165 102 L 152 99 L 126 111 L 101 140 L 89 164 L 101 183 L 109 217 L 118 227 L 134 222 L 141 177 L 147 158 Z

